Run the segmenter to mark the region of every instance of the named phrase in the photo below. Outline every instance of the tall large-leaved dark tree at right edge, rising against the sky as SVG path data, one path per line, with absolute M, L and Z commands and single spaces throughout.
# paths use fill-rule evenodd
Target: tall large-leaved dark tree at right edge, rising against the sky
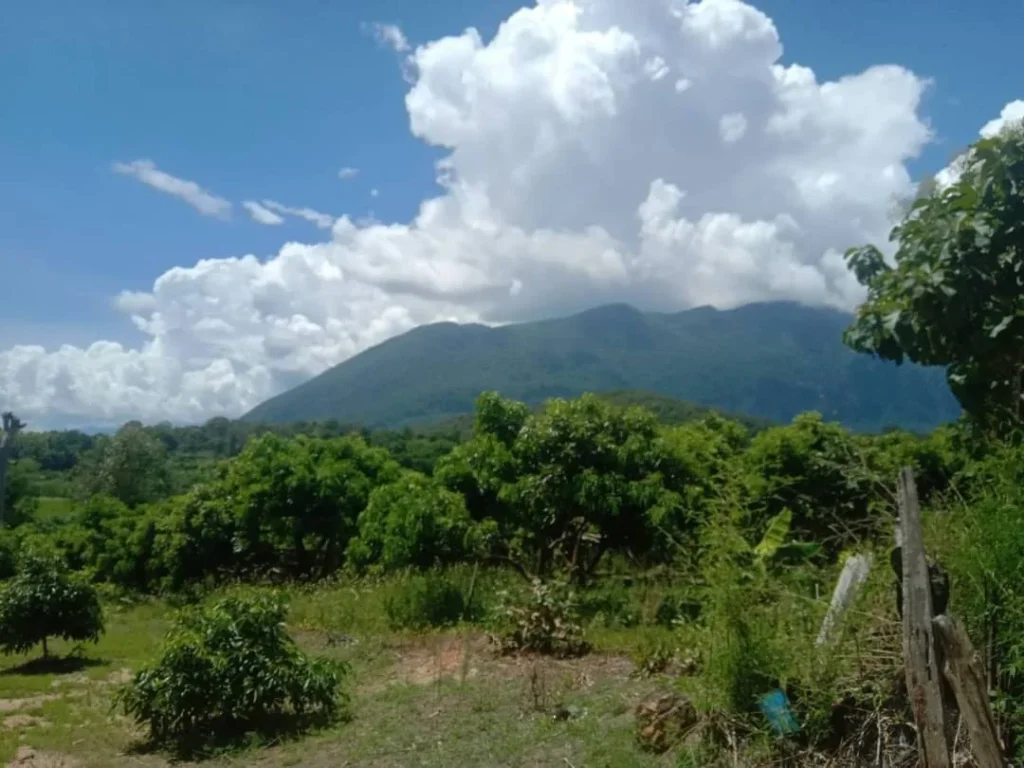
M 1024 416 L 1024 128 L 973 144 L 958 170 L 892 230 L 893 263 L 874 246 L 847 253 L 867 300 L 845 341 L 946 367 L 964 411 L 1006 431 Z

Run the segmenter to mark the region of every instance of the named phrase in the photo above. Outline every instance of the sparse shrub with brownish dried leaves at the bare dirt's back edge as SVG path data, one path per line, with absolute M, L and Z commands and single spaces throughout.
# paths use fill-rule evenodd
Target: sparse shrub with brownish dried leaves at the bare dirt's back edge
M 563 582 L 535 579 L 525 595 L 505 593 L 502 606 L 508 630 L 501 638 L 506 651 L 535 651 L 554 656 L 583 655 L 584 639 L 575 593 Z

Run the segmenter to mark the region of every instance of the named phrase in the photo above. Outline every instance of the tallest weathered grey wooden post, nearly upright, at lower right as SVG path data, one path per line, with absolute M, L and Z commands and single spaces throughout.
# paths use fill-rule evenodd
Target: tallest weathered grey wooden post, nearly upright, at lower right
M 913 471 L 899 475 L 899 519 L 903 531 L 903 660 L 906 689 L 918 727 L 918 753 L 924 768 L 949 768 L 945 716 L 932 629 L 932 592 L 925 557 L 925 534 Z

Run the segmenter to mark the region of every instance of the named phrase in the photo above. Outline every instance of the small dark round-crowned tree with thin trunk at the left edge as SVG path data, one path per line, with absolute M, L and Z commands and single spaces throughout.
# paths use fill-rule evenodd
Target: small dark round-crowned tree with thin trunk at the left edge
M 24 653 L 37 643 L 49 655 L 47 639 L 96 642 L 103 632 L 99 597 L 90 585 L 71 577 L 53 558 L 26 558 L 0 590 L 0 649 Z

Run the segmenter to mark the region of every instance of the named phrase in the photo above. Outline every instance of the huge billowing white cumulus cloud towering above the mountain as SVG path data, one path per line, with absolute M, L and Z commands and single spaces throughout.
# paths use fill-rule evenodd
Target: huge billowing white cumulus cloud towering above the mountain
M 0 394 L 26 418 L 198 420 L 423 323 L 851 308 L 841 254 L 885 242 L 912 194 L 928 84 L 896 66 L 819 82 L 781 52 L 739 0 L 540 0 L 490 40 L 421 45 L 410 128 L 444 159 L 412 220 L 263 201 L 330 239 L 171 269 L 118 299 L 144 344 L 2 352 Z

